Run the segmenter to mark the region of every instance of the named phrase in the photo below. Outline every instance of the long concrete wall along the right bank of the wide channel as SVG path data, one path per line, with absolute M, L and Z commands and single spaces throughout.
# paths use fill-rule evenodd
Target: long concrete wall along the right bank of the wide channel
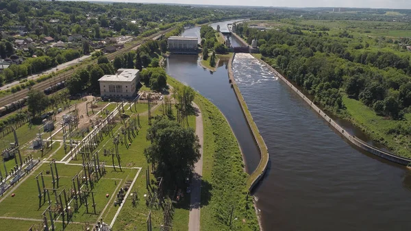
M 401 165 L 408 165 L 411 162 L 411 159 L 403 158 L 401 156 L 396 156 L 395 154 L 392 154 L 388 151 L 384 151 L 382 149 L 374 147 L 373 145 L 369 145 L 368 143 L 365 143 L 364 141 L 362 141 L 360 138 L 357 138 L 356 136 L 349 134 L 347 131 L 343 129 L 343 127 L 340 127 L 340 125 L 338 125 L 333 119 L 329 118 L 327 114 L 323 112 L 323 110 L 321 110 L 312 101 L 310 101 L 310 99 L 308 99 L 305 95 L 303 95 L 303 93 L 301 93 L 301 91 L 298 90 L 298 88 L 293 86 L 284 76 L 282 76 L 280 73 L 275 71 L 275 69 L 273 69 L 273 67 L 271 67 L 269 64 L 266 64 L 266 62 L 262 60 L 260 61 L 263 64 L 265 64 L 269 69 L 271 69 L 271 71 L 273 71 L 275 75 L 277 75 L 277 77 L 279 77 L 282 81 L 284 81 L 292 90 L 295 91 L 295 93 L 297 93 L 297 95 L 299 95 L 302 99 L 304 99 L 304 101 L 306 101 L 306 103 L 310 105 L 313 110 L 315 110 L 321 117 L 323 117 L 323 119 L 327 121 L 329 125 L 334 127 L 335 130 L 337 130 L 341 135 L 347 138 L 347 140 L 351 142 L 353 145 L 356 145 L 357 147 L 360 147 L 361 149 L 364 149 L 365 151 L 369 151 L 371 154 L 374 154 L 375 156 L 379 156 L 386 160 L 397 162 Z

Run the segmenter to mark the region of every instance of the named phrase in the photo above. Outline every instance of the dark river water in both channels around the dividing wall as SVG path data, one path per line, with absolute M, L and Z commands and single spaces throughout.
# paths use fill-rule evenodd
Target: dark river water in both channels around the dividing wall
M 166 71 L 223 112 L 251 172 L 260 155 L 229 86 L 226 64 L 210 73 L 197 56 L 171 55 Z M 255 192 L 264 230 L 411 230 L 410 171 L 349 145 L 249 54 L 236 54 L 233 69 L 271 158 Z

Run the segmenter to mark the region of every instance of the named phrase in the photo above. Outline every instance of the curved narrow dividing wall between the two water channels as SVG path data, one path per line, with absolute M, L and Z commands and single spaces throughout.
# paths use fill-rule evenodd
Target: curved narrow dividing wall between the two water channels
M 234 88 L 234 93 L 236 93 L 236 97 L 238 99 L 238 102 L 240 103 L 242 112 L 244 113 L 245 118 L 247 119 L 247 124 L 249 125 L 249 128 L 251 132 L 253 133 L 254 141 L 257 143 L 258 150 L 260 151 L 260 154 L 261 154 L 258 167 L 256 168 L 256 170 L 253 171 L 253 173 L 250 174 L 249 178 L 247 179 L 247 187 L 249 191 L 252 191 L 254 186 L 256 186 L 256 184 L 264 176 L 264 173 L 266 172 L 266 169 L 269 165 L 269 151 L 267 149 L 266 143 L 264 142 L 264 139 L 262 138 L 260 134 L 260 131 L 258 130 L 256 123 L 253 120 L 253 117 L 251 116 L 251 112 L 249 112 L 249 109 L 247 108 L 247 104 L 245 103 L 245 100 L 241 95 L 240 89 L 238 88 L 236 81 L 234 80 L 234 74 L 232 71 L 232 62 L 235 56 L 236 56 L 236 53 L 234 53 L 232 58 L 230 58 L 228 62 L 228 66 L 227 66 L 229 82 L 232 84 Z

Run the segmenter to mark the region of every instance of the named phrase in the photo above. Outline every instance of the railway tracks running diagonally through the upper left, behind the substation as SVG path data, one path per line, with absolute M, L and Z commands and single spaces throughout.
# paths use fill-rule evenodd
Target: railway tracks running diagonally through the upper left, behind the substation
M 157 39 L 159 36 L 161 36 L 162 34 L 166 34 L 168 32 L 171 32 L 173 29 L 175 29 L 174 27 L 171 27 L 169 29 L 166 29 L 164 31 L 152 34 L 151 36 L 148 36 L 147 38 L 144 38 L 143 40 L 137 42 L 135 45 L 132 45 L 132 47 L 129 48 L 123 48 L 119 51 L 116 51 L 114 53 L 109 53 L 106 55 L 106 57 L 108 58 L 108 60 L 114 60 L 114 58 L 116 56 L 120 56 L 123 53 L 126 53 L 128 51 L 131 51 L 133 49 L 136 49 L 137 47 L 139 47 L 140 45 L 142 45 L 144 42 L 146 42 L 147 40 L 154 40 Z M 97 60 L 93 60 L 91 63 L 89 64 L 95 64 L 97 63 Z M 37 89 L 37 90 L 44 90 L 45 88 L 48 88 L 49 86 L 53 86 L 55 84 L 58 84 L 58 82 L 62 82 L 65 81 L 68 77 L 70 77 L 79 67 L 81 67 L 83 65 L 78 66 L 75 69 L 71 69 L 69 71 L 65 71 L 64 73 L 61 73 L 58 76 L 52 77 L 49 80 L 45 80 L 44 82 L 40 82 L 38 84 L 34 84 L 32 86 L 32 89 Z M 23 97 L 27 96 L 27 93 L 29 92 L 29 89 L 25 88 L 22 90 L 19 90 L 16 93 L 12 93 L 12 95 L 6 95 L 5 97 L 1 97 L 0 98 L 0 107 L 3 107 L 7 104 L 11 104 L 14 101 L 17 101 L 18 99 L 21 99 Z

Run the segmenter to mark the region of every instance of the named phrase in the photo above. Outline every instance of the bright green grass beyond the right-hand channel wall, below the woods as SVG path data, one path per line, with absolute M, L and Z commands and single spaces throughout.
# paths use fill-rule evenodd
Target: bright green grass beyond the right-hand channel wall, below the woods
M 344 96 L 343 103 L 347 107 L 350 120 L 354 125 L 360 127 L 363 132 L 369 134 L 373 140 L 386 145 L 398 155 L 411 158 L 410 137 L 388 134 L 390 129 L 394 129 L 400 124 L 407 126 L 407 121 L 411 119 L 410 113 L 405 115 L 407 121 L 394 121 L 386 117 L 378 116 L 371 108 L 356 99 L 350 99 Z

